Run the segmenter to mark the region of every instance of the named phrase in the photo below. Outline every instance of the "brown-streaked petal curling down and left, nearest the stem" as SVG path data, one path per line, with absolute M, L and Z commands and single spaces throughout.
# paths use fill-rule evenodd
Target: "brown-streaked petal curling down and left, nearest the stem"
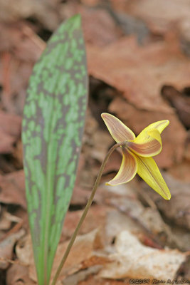
M 117 175 L 107 182 L 107 185 L 120 185 L 127 183 L 136 175 L 137 173 L 137 160 L 136 156 L 132 155 L 127 151 L 125 147 L 122 147 L 122 165 Z

